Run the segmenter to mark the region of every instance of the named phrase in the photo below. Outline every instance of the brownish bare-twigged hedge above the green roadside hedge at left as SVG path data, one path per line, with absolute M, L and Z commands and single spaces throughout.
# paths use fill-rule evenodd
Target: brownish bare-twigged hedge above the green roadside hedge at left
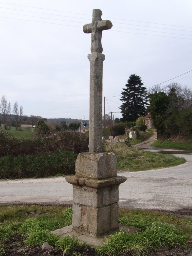
M 19 139 L 10 133 L 0 131 L 0 156 L 27 156 L 38 153 L 67 150 L 81 153 L 88 151 L 88 138 L 80 132 L 61 131 L 45 138 Z

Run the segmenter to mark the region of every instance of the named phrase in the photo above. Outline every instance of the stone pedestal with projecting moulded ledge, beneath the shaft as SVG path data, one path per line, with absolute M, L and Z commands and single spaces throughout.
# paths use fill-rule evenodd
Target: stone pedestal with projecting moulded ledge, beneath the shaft
M 72 230 L 92 237 L 118 231 L 118 187 L 126 177 L 117 176 L 115 154 L 80 153 L 75 172 L 66 177 L 73 185 Z

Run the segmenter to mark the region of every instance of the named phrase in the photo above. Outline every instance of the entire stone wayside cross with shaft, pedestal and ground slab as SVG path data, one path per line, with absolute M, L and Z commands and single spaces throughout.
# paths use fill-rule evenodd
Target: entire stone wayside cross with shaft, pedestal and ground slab
M 85 33 L 92 33 L 92 53 L 88 55 L 90 149 L 89 152 L 78 155 L 75 176 L 66 177 L 66 181 L 73 185 L 72 225 L 55 231 L 64 236 L 75 235 L 78 239 L 94 245 L 99 237 L 119 231 L 118 187 L 126 181 L 125 177 L 117 176 L 115 154 L 102 152 L 102 65 L 105 55 L 102 54 L 101 37 L 102 30 L 110 29 L 112 23 L 103 21 L 101 15 L 101 10 L 93 10 L 92 23 L 83 27 Z

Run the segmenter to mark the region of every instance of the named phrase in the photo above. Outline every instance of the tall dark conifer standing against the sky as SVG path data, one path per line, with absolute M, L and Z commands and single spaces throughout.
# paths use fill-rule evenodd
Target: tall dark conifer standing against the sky
M 147 91 L 143 87 L 142 80 L 136 74 L 131 74 L 126 84 L 126 88 L 121 92 L 121 101 L 124 103 L 121 109 L 123 122 L 136 121 L 141 115 L 146 115 Z

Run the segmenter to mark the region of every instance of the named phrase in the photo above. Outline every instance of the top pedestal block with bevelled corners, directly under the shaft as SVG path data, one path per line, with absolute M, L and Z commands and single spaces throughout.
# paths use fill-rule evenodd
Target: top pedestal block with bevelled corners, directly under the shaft
M 80 153 L 76 159 L 76 177 L 103 179 L 117 176 L 114 153 Z

